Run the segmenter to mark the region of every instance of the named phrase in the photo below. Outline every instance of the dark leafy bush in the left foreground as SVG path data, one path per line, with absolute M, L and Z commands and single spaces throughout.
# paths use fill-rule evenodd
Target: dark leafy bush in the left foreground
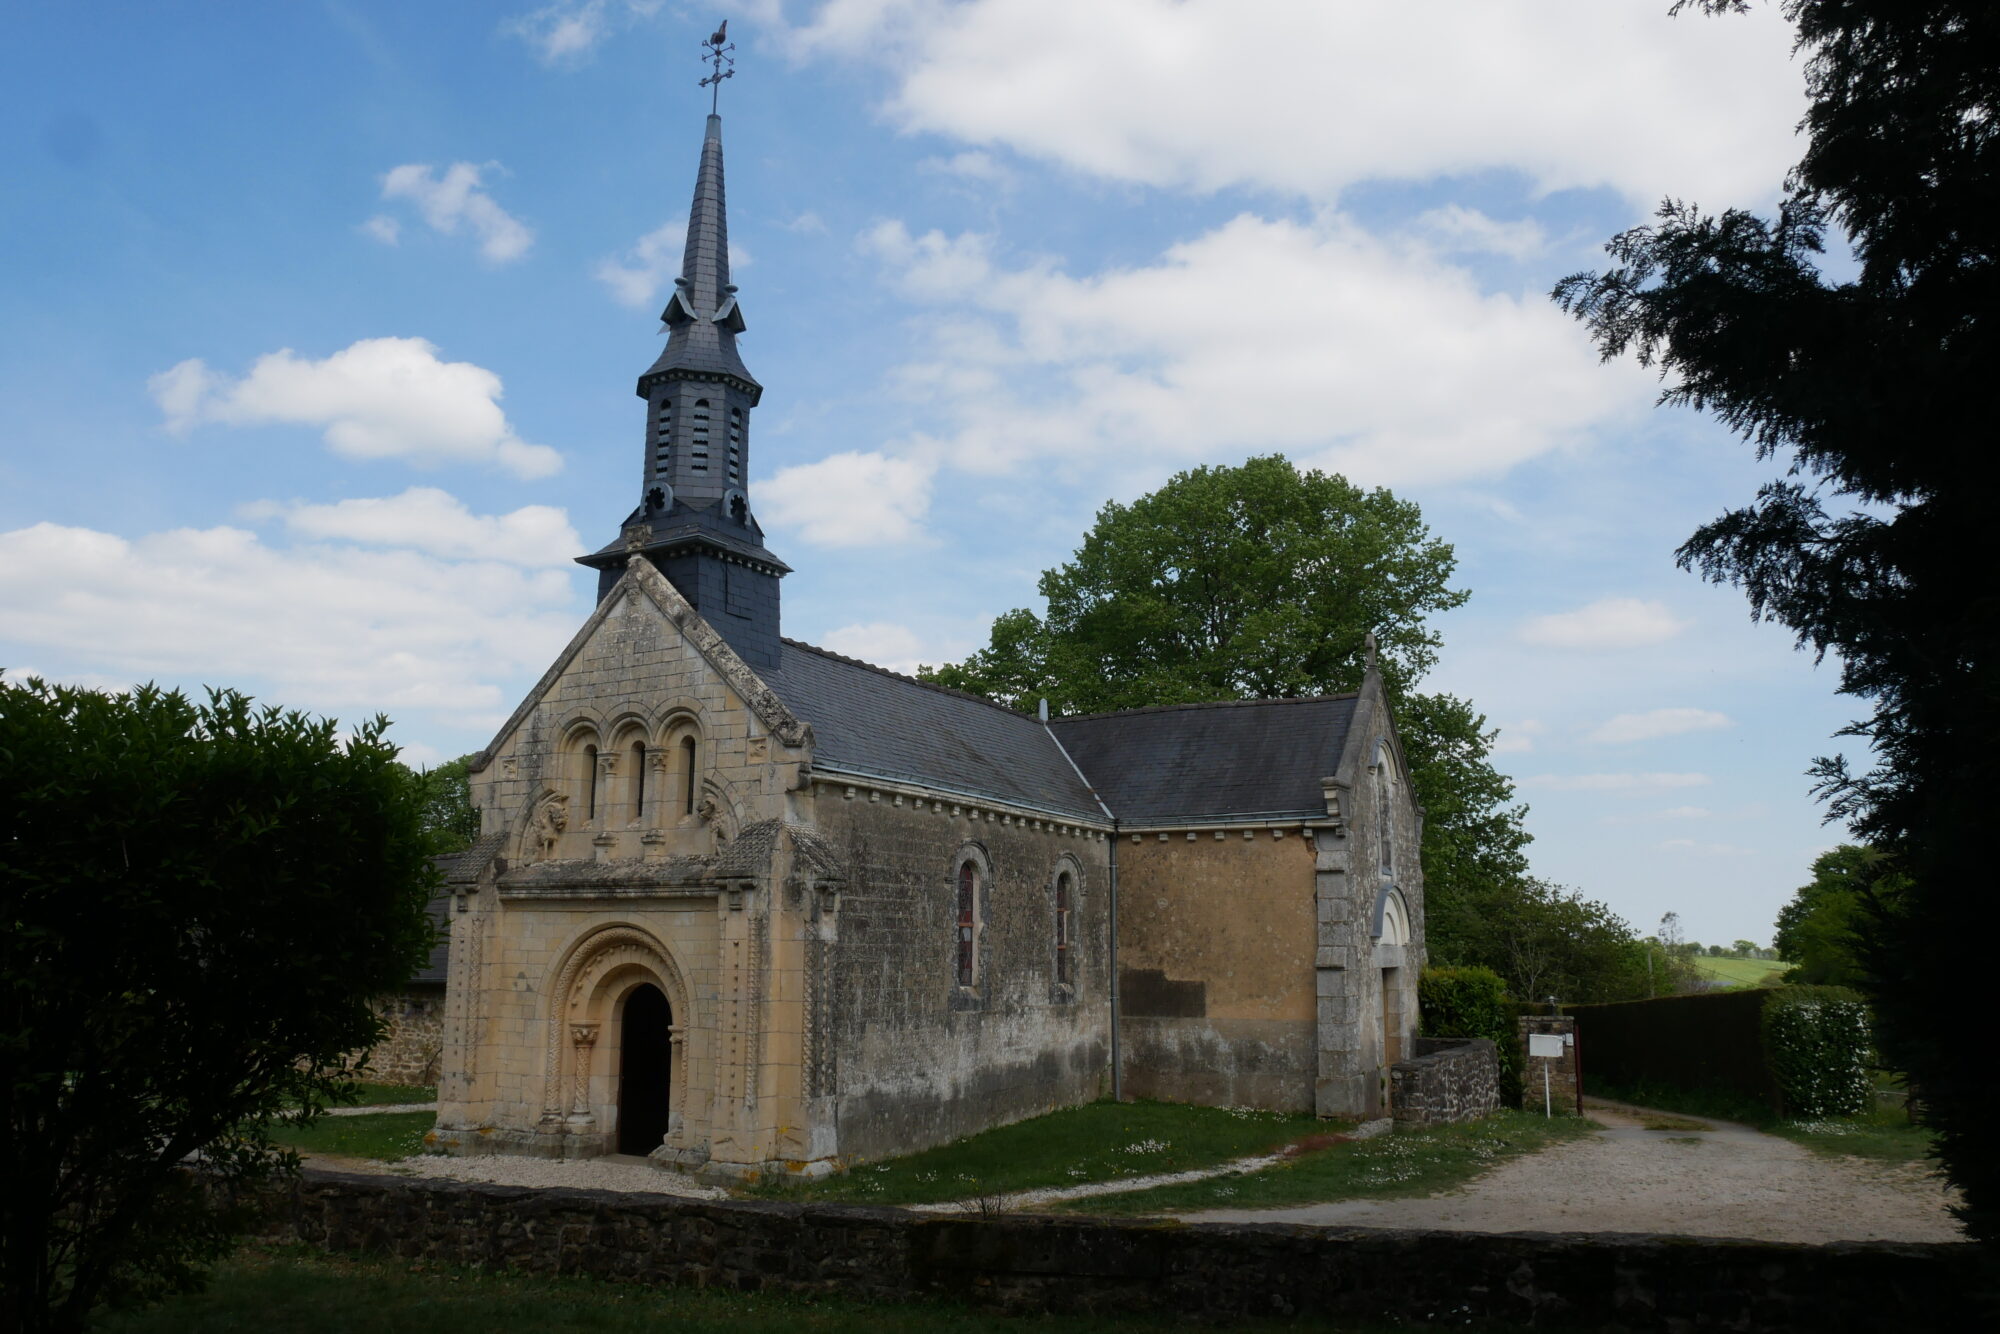
M 296 1162 L 266 1122 L 378 1040 L 434 882 L 386 726 L 0 680 L 6 1328 L 196 1286 Z

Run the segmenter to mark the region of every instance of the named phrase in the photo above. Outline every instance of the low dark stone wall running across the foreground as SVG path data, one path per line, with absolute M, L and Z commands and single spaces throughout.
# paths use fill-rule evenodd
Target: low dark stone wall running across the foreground
M 272 1240 L 334 1252 L 1016 1312 L 1512 1320 L 1838 1334 L 1974 1328 L 1968 1244 L 1394 1232 L 702 1202 L 306 1172 Z

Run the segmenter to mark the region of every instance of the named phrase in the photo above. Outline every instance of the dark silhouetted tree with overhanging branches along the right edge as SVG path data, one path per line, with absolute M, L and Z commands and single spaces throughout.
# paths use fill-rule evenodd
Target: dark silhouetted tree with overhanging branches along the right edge
M 1726 12 L 1740 0 L 1702 0 Z M 1924 1094 L 1962 1218 L 2000 1240 L 2000 1070 L 1982 1056 L 2000 602 L 2000 6 L 1784 0 L 1806 58 L 1804 158 L 1774 216 L 1668 202 L 1556 300 L 1606 358 L 1660 368 L 1786 476 L 1700 528 L 1684 566 L 1840 664 L 1872 768 L 1820 760 L 1832 818 L 1880 858 L 1854 880 L 1880 1042 Z M 1854 264 L 1822 262 L 1828 234 Z M 1882 882 L 1900 886 L 1894 906 Z

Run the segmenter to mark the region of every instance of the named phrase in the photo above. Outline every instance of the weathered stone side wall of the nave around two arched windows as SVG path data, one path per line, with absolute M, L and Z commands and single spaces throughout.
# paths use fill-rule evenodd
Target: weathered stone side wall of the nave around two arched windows
M 878 1158 L 1100 1096 L 1110 1070 L 1108 844 L 1100 832 L 842 782 L 820 832 L 848 854 L 828 946 L 824 1078 L 840 1154 Z M 978 986 L 956 978 L 956 870 L 982 864 Z M 1056 984 L 1056 874 L 1074 886 Z

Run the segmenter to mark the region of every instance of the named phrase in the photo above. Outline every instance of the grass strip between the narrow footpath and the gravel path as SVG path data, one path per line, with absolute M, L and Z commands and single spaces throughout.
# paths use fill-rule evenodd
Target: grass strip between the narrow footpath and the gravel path
M 1206 1208 L 1284 1208 L 1330 1200 L 1398 1200 L 1452 1190 L 1498 1162 L 1594 1132 L 1588 1120 L 1494 1112 L 1464 1126 L 1398 1130 L 1374 1140 L 1318 1148 L 1262 1172 L 1214 1176 L 1092 1196 L 1056 1206 L 1066 1214 L 1190 1214 Z

